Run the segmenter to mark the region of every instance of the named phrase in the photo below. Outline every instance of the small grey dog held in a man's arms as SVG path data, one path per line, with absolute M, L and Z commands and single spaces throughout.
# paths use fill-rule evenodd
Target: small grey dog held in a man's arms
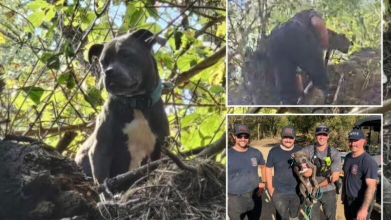
M 294 159 L 293 171 L 297 174 L 300 179 L 300 193 L 306 199 L 306 204 L 309 206 L 316 202 L 316 189 L 314 189 L 318 181 L 316 181 L 316 165 L 314 165 L 309 159 L 307 151 L 299 150 L 295 153 L 292 153 L 292 158 Z M 310 182 L 309 177 L 303 176 L 303 173 L 306 172 L 309 168 L 312 169 L 311 180 L 313 185 Z M 309 199 L 308 195 L 312 194 L 312 201 Z

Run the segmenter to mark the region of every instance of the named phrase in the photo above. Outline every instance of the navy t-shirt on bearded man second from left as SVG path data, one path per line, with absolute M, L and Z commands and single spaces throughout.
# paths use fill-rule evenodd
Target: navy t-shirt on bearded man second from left
M 292 153 L 299 150 L 301 146 L 298 145 L 294 145 L 291 150 L 283 150 L 278 144 L 269 151 L 266 167 L 274 167 L 273 187 L 280 192 L 296 193 L 298 179 L 291 162 Z

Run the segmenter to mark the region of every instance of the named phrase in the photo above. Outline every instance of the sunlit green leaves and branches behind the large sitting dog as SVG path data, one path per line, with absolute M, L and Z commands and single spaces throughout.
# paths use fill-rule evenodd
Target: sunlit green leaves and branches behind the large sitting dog
M 162 97 L 178 148 L 215 142 L 229 111 L 225 20 L 225 0 L 0 0 L 0 136 L 74 155 L 107 97 L 88 48 L 145 28 L 167 38 L 153 52 L 174 83 Z

